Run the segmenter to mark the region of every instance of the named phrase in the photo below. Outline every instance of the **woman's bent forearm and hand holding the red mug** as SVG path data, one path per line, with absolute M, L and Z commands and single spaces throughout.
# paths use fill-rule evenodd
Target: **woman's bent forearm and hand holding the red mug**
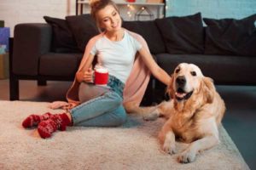
M 76 73 L 76 78 L 79 82 L 93 82 L 93 71 L 91 69 L 91 64 L 94 57 L 95 55 L 89 54 L 83 68 Z

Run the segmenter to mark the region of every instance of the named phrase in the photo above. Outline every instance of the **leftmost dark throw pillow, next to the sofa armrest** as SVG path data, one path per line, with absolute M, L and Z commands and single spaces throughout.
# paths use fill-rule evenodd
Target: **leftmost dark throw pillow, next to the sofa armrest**
M 78 53 L 79 48 L 69 30 L 66 20 L 44 16 L 44 20 L 52 26 L 53 38 L 51 51 L 55 53 Z

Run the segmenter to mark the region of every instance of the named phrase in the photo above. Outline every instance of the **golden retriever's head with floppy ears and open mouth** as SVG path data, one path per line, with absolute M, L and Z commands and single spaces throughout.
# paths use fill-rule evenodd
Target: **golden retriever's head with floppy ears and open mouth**
M 214 89 L 212 79 L 204 77 L 198 66 L 182 63 L 174 70 L 167 93 L 178 102 L 187 100 L 194 94 L 202 93 L 207 102 L 211 103 Z

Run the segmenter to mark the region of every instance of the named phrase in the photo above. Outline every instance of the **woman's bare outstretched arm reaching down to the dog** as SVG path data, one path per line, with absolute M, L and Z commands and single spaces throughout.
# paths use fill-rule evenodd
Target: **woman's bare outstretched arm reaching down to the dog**
M 143 47 L 139 50 L 139 54 L 143 58 L 145 65 L 148 66 L 148 69 L 151 71 L 153 76 L 156 77 L 160 82 L 168 85 L 171 81 L 171 77 L 166 73 L 166 71 L 164 71 L 162 68 L 160 68 L 159 65 L 156 64 L 152 55 L 148 53 L 148 50 Z

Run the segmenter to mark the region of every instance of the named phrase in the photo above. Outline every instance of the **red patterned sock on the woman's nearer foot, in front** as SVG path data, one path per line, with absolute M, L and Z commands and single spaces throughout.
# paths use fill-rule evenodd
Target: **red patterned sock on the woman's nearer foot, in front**
M 38 133 L 41 138 L 46 139 L 51 136 L 57 129 L 65 131 L 66 127 L 71 125 L 71 122 L 66 113 L 55 114 L 48 120 L 38 124 Z

